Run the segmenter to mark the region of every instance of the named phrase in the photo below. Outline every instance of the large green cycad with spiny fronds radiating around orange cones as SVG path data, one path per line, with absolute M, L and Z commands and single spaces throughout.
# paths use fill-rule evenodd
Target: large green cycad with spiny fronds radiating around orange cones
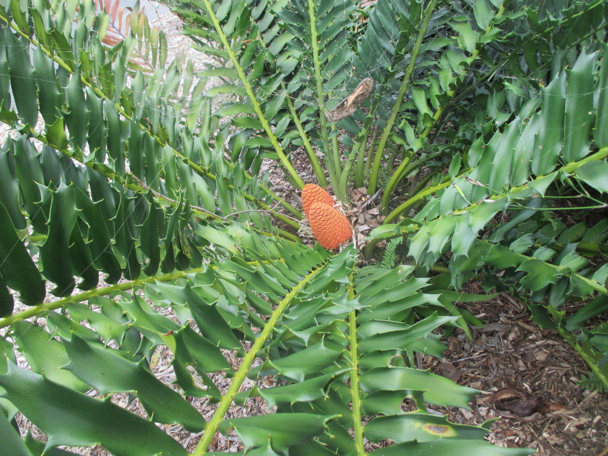
M 94 2 L 2 2 L 3 451 L 182 455 L 165 432 L 179 425 L 202 432 L 197 455 L 218 432 L 252 455 L 361 455 L 366 440 L 530 454 L 483 441 L 491 421 L 438 416 L 477 392 L 416 368 L 443 353 L 438 328 L 482 324 L 455 305 L 478 299 L 457 292 L 471 278 L 525 300 L 608 384 L 606 325 L 586 326 L 608 294 L 605 2 L 170 6 L 205 71 L 167 63 L 137 9 L 106 47 Z M 275 160 L 302 188 L 300 147 L 344 206 L 350 185 L 380 190 L 364 252 L 305 246 L 300 208 L 260 176 Z M 579 223 L 559 216 L 572 209 Z M 565 318 L 570 300 L 585 304 Z M 273 413 L 232 417 L 253 400 Z

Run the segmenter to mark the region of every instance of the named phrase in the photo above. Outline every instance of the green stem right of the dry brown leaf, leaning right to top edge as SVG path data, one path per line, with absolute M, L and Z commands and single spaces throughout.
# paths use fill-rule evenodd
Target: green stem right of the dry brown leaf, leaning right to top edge
M 435 9 L 435 4 L 437 4 L 437 0 L 430 0 L 429 5 L 427 6 L 426 13 L 424 15 L 424 22 L 423 25 L 420 27 L 420 30 L 418 31 L 418 38 L 416 38 L 416 43 L 412 50 L 412 57 L 410 57 L 410 63 L 407 65 L 406 74 L 403 77 L 401 88 L 399 88 L 399 93 L 395 101 L 395 106 L 393 106 L 393 111 L 391 112 L 389 120 L 386 123 L 386 126 L 384 127 L 384 131 L 382 131 L 382 137 L 380 138 L 378 149 L 376 150 L 373 165 L 371 167 L 370 185 L 368 186 L 368 193 L 370 195 L 376 193 L 376 185 L 378 183 L 378 172 L 380 169 L 382 154 L 384 154 L 384 148 L 386 147 L 387 140 L 389 140 L 389 135 L 393 130 L 393 125 L 395 125 L 395 120 L 397 119 L 397 115 L 399 114 L 399 110 L 401 109 L 403 98 L 406 95 L 406 91 L 410 83 L 410 78 L 412 77 L 412 72 L 416 64 L 416 58 L 418 58 L 418 52 L 420 52 L 420 46 L 422 44 L 424 34 L 426 33 L 426 29 L 429 26 L 430 16 L 432 15 L 433 10 Z

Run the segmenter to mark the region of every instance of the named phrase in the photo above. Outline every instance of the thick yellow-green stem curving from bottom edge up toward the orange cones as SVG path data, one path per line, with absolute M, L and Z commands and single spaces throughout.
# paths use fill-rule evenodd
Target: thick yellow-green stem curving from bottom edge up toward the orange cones
M 244 356 L 243 362 L 241 362 L 240 367 L 238 368 L 237 373 L 232 379 L 230 383 L 230 387 L 228 388 L 226 394 L 222 398 L 222 400 L 218 404 L 218 408 L 215 413 L 213 413 L 213 418 L 207 426 L 205 427 L 205 432 L 202 434 L 201 440 L 198 445 L 196 445 L 195 450 L 193 451 L 193 456 L 201 456 L 207 451 L 209 448 L 209 444 L 211 443 L 213 436 L 218 430 L 219 423 L 224 419 L 224 415 L 228 411 L 230 404 L 232 404 L 232 400 L 234 396 L 237 395 L 238 389 L 241 387 L 247 372 L 249 372 L 249 368 L 251 367 L 252 362 L 254 362 L 257 357 L 258 352 L 261 348 L 264 347 L 266 340 L 271 335 L 274 330 L 275 325 L 278 322 L 278 319 L 283 315 L 283 312 L 286 308 L 291 304 L 291 301 L 294 299 L 295 295 L 303 288 L 306 283 L 314 277 L 317 272 L 319 272 L 324 265 L 319 266 L 319 268 L 315 269 L 310 274 L 306 275 L 300 282 L 294 286 L 294 288 L 283 298 L 277 305 L 277 308 L 272 313 L 271 317 L 266 322 L 264 329 L 261 331 L 260 335 L 255 339 L 254 345 L 252 345 L 251 350 Z

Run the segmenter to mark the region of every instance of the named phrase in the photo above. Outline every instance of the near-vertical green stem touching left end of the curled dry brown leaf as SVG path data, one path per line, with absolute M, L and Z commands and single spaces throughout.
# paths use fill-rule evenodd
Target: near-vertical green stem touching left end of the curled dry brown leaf
M 340 179 L 340 156 L 337 150 L 330 148 L 330 137 L 327 133 L 327 119 L 325 119 L 325 97 L 323 95 L 323 78 L 321 77 L 321 63 L 319 61 L 319 38 L 317 37 L 317 16 L 314 11 L 314 0 L 308 0 L 308 14 L 310 16 L 310 39 L 313 46 L 314 76 L 316 79 L 317 101 L 319 102 L 319 121 L 321 123 L 321 136 L 323 138 L 323 153 L 328 174 L 330 175 L 331 186 L 340 201 L 344 195 L 339 195 Z

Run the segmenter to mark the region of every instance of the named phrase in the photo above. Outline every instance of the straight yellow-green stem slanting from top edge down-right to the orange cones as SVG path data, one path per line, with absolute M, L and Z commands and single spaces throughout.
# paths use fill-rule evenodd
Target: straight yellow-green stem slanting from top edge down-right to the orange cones
M 277 153 L 278 158 L 280 159 L 281 163 L 283 164 L 283 167 L 285 167 L 286 171 L 288 172 L 289 178 L 294 183 L 294 185 L 297 186 L 298 188 L 302 189 L 302 187 L 304 187 L 304 182 L 302 181 L 300 176 L 298 176 L 297 171 L 295 171 L 295 169 L 294 169 L 294 167 L 292 167 L 291 163 L 289 163 L 287 156 L 285 155 L 285 153 L 283 152 L 283 149 L 281 148 L 280 144 L 278 143 L 277 137 L 274 136 L 274 133 L 272 133 L 268 120 L 266 120 L 266 117 L 264 116 L 264 113 L 262 112 L 260 103 L 258 103 L 257 98 L 255 98 L 254 91 L 252 90 L 251 85 L 249 84 L 249 81 L 247 81 L 247 77 L 245 76 L 245 74 L 243 72 L 243 67 L 241 67 L 241 64 L 238 62 L 237 55 L 235 55 L 234 51 L 232 50 L 232 47 L 230 46 L 230 43 L 228 43 L 226 34 L 224 33 L 222 26 L 219 24 L 218 18 L 215 16 L 215 13 L 213 12 L 213 7 L 212 7 L 211 3 L 209 2 L 209 0 L 202 0 L 202 2 L 205 4 L 205 7 L 207 8 L 207 12 L 209 13 L 209 18 L 213 22 L 213 27 L 215 27 L 215 31 L 219 35 L 219 40 L 224 45 L 224 49 L 226 50 L 227 54 L 229 55 L 230 60 L 232 60 L 234 69 L 237 71 L 238 77 L 240 78 L 241 82 L 243 83 L 243 87 L 245 88 L 247 95 L 249 95 L 249 100 L 251 101 L 251 104 L 254 106 L 255 113 L 257 114 L 258 119 L 260 120 L 262 126 L 264 127 L 264 131 L 266 131 L 266 135 L 268 136 L 268 139 L 272 143 L 272 146 L 274 147 L 274 150 Z

